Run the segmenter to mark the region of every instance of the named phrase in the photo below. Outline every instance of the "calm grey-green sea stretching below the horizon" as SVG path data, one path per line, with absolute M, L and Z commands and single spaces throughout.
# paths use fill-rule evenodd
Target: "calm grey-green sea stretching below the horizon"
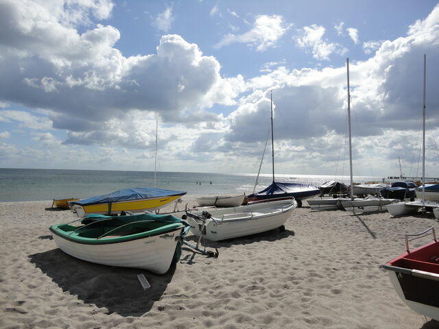
M 154 179 L 155 176 L 155 179 Z M 276 182 L 302 182 L 320 186 L 329 180 L 350 184 L 349 176 L 276 175 Z M 86 199 L 122 188 L 154 187 L 185 191 L 188 195 L 252 193 L 272 182 L 271 174 L 179 173 L 154 171 L 106 171 L 0 168 L 0 202 Z M 381 182 L 382 178 L 354 176 L 354 182 Z

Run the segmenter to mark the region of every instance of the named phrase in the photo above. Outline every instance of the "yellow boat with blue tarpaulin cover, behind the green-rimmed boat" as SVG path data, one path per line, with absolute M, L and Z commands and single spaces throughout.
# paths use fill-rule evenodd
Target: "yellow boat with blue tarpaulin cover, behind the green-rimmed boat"
M 121 212 L 145 212 L 158 210 L 176 201 L 186 192 L 162 188 L 124 188 L 112 193 L 69 202 L 71 210 L 84 217 L 90 214 L 117 215 Z

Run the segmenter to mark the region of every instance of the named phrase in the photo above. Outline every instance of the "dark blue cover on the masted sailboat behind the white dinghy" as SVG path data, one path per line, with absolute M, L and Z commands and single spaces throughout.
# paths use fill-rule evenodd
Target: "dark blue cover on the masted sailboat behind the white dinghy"
M 320 190 L 311 184 L 272 182 L 270 186 L 262 191 L 248 195 L 248 198 L 274 199 L 277 197 L 294 197 L 300 199 L 302 197 L 312 197 L 319 193 Z

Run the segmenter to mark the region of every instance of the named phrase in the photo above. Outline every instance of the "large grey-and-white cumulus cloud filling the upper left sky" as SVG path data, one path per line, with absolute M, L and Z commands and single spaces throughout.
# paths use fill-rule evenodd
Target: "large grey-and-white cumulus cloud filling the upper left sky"
M 89 131 L 130 110 L 185 121 L 215 102 L 235 103 L 243 88 L 242 77 L 222 78 L 219 62 L 181 36 L 162 36 L 156 53 L 124 57 L 115 27 L 80 34 L 51 10 L 0 3 L 0 22 L 10 22 L 0 29 L 0 99 L 45 108 L 56 128 Z

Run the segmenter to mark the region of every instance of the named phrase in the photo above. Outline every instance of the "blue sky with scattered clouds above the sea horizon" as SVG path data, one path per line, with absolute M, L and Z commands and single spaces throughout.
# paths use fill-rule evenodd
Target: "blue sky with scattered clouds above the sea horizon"
M 348 58 L 353 174 L 420 176 L 424 54 L 439 177 L 437 1 L 0 0 L 0 167 L 257 173 L 271 96 L 276 173 L 348 175 Z

